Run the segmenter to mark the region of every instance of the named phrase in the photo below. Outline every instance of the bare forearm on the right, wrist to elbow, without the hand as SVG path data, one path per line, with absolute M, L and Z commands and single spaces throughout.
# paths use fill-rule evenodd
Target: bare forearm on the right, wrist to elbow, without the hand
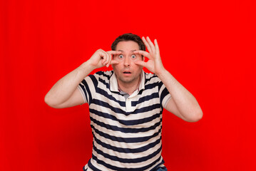
M 203 112 L 198 101 L 167 70 L 164 69 L 157 76 L 170 92 L 178 112 L 184 120 L 193 122 L 202 118 Z

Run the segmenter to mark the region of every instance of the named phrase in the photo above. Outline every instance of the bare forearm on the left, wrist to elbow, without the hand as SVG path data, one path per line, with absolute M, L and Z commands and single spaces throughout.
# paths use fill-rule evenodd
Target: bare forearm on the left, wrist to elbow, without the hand
M 71 98 L 77 86 L 93 71 L 88 61 L 61 78 L 45 96 L 45 102 L 54 107 Z

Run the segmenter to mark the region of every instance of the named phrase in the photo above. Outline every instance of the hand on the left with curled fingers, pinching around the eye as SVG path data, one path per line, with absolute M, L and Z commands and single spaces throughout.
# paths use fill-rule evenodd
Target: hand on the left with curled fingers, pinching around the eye
M 92 70 L 103 66 L 108 67 L 118 63 L 118 61 L 112 59 L 112 55 L 119 55 L 121 53 L 121 51 L 103 51 L 102 49 L 98 49 L 88 60 L 88 63 Z

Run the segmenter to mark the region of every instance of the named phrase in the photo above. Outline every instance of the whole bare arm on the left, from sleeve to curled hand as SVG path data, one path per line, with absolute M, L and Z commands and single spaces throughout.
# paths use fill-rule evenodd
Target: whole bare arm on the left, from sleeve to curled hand
M 112 55 L 120 53 L 99 49 L 88 61 L 61 78 L 48 91 L 44 98 L 45 102 L 52 108 L 68 108 L 84 103 L 83 96 L 77 88 L 79 83 L 94 69 L 117 63 L 117 61 L 112 60 Z

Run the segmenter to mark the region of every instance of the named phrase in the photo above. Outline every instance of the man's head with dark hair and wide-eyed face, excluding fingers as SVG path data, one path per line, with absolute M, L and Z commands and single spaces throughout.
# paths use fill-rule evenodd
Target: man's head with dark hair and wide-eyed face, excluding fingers
M 143 66 L 135 64 L 135 61 L 143 61 L 143 56 L 135 54 L 134 51 L 145 51 L 145 44 L 141 38 L 135 34 L 126 33 L 116 38 L 111 48 L 113 51 L 122 52 L 120 55 L 113 56 L 113 60 L 118 61 L 118 64 L 112 65 L 118 83 L 139 83 Z

